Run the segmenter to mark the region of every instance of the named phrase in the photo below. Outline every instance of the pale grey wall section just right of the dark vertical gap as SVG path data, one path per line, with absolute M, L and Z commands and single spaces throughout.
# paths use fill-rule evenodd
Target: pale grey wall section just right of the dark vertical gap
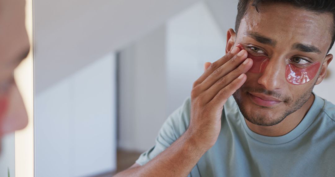
M 165 26 L 120 52 L 119 147 L 154 145 L 166 114 Z

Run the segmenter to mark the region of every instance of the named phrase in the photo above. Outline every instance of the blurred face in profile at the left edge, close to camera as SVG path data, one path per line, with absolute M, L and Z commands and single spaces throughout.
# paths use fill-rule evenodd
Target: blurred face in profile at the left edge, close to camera
M 0 0 L 0 137 L 28 123 L 13 72 L 29 53 L 25 1 Z M 0 146 L 1 147 L 1 146 Z

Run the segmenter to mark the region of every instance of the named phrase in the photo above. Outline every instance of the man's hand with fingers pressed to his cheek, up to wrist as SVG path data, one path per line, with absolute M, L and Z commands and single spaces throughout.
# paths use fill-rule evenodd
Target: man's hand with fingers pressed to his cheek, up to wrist
M 214 63 L 205 63 L 205 72 L 191 92 L 191 121 L 187 135 L 198 148 L 207 151 L 220 133 L 224 103 L 246 81 L 253 62 L 248 53 L 233 48 Z

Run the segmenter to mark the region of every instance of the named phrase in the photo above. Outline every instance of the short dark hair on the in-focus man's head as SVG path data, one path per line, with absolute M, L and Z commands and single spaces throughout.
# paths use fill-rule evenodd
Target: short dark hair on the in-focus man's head
M 252 1 L 252 2 L 251 2 Z M 259 12 L 259 4 L 261 3 L 289 3 L 292 4 L 295 7 L 303 8 L 306 10 L 310 10 L 316 13 L 332 13 L 334 20 L 333 20 L 333 36 L 332 36 L 332 42 L 330 44 L 330 47 L 328 49 L 328 52 L 334 45 L 335 41 L 335 0 L 239 0 L 239 4 L 237 6 L 237 16 L 236 16 L 236 22 L 235 22 L 235 31 L 238 32 L 241 19 L 245 15 L 249 3 L 252 3 L 252 6 L 254 6 Z

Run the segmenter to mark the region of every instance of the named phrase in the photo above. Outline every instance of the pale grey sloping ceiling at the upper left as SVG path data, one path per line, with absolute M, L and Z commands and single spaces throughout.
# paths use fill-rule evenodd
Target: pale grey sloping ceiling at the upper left
M 37 94 L 96 58 L 131 44 L 197 1 L 34 0 L 34 50 L 40 56 L 34 58 L 39 68 Z

